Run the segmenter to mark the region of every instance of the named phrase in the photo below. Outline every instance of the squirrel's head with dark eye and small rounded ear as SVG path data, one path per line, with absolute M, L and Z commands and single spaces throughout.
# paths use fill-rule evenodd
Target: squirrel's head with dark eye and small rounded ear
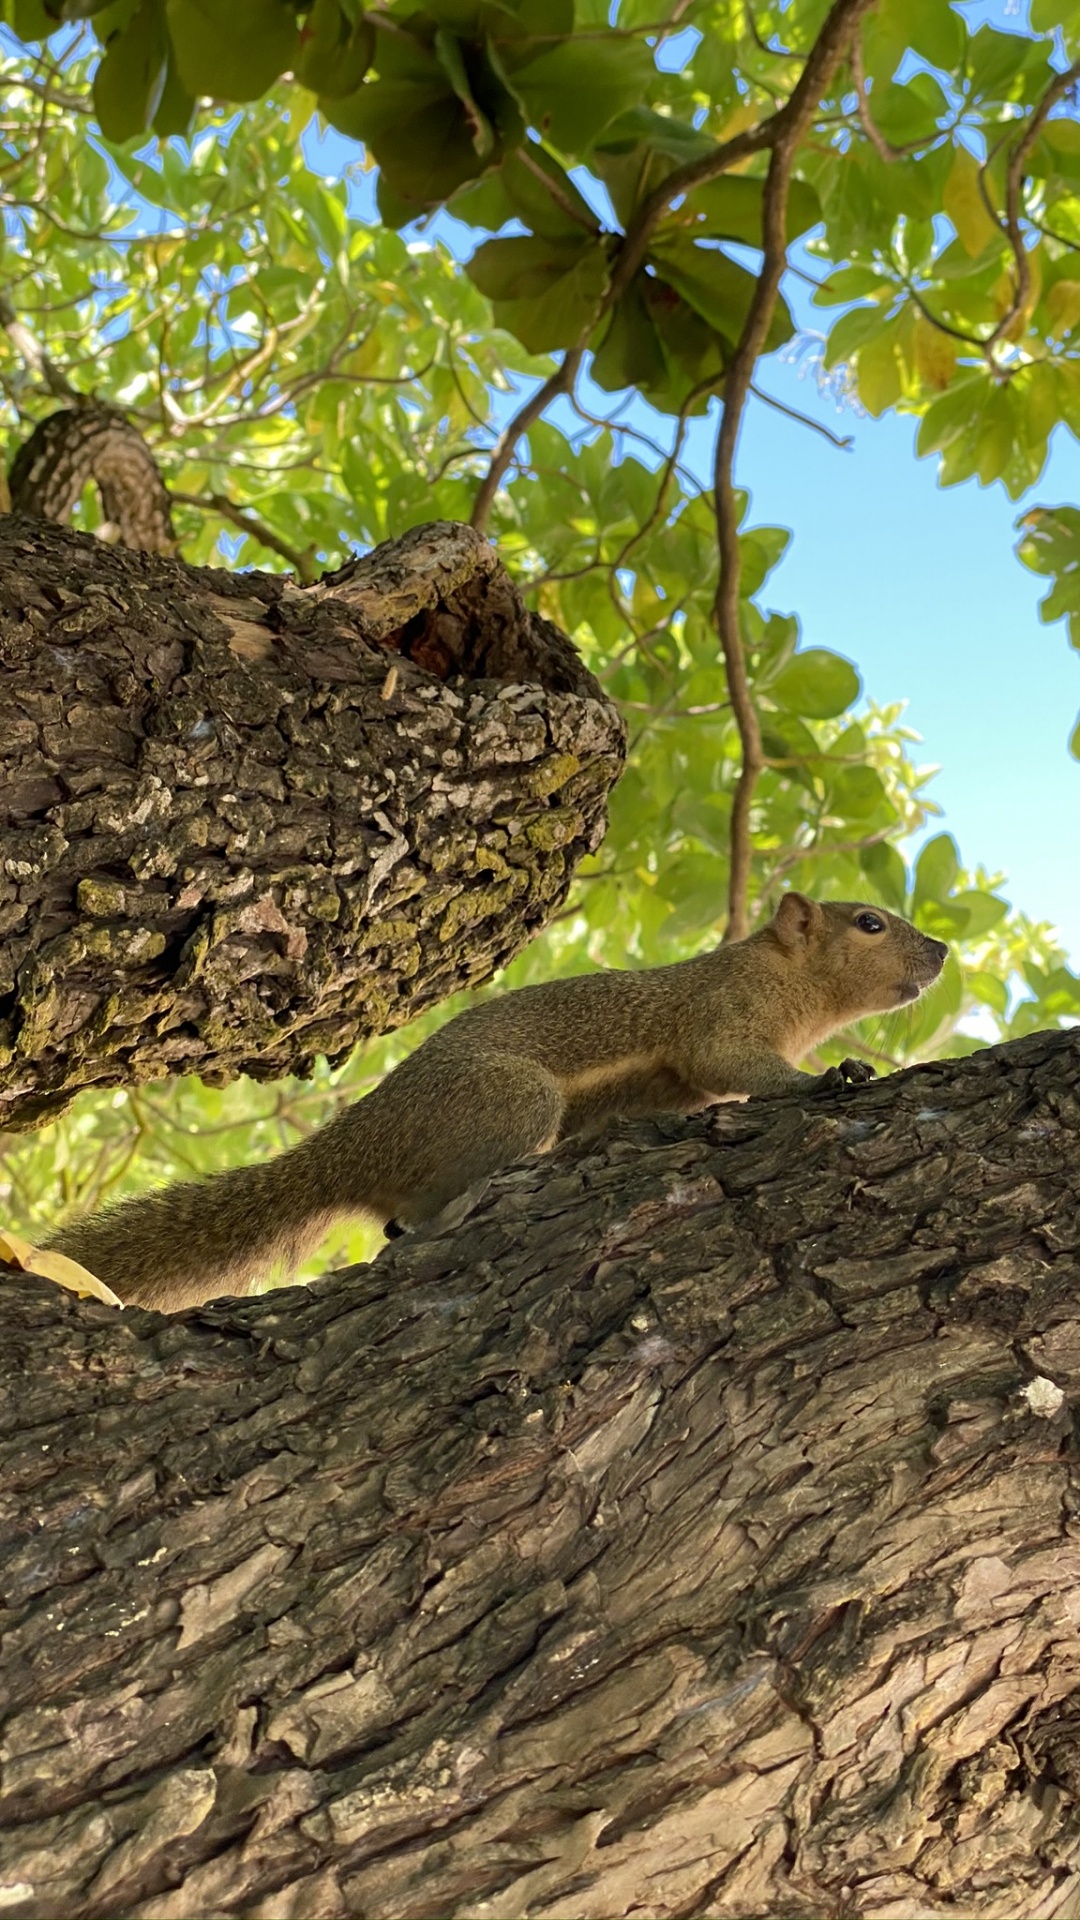
M 909 920 L 863 900 L 807 900 L 786 893 L 769 922 L 786 958 L 847 1020 L 888 1014 L 938 979 L 949 948 Z

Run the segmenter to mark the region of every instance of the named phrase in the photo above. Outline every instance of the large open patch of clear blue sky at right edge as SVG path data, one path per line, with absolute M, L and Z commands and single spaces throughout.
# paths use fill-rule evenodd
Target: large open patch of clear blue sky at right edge
M 1055 922 L 1080 960 L 1080 762 L 1067 747 L 1080 655 L 1061 622 L 1040 622 L 1049 582 L 1013 551 L 1026 507 L 1080 501 L 1080 445 L 1059 426 L 1020 501 L 1001 482 L 940 488 L 938 461 L 915 457 L 915 420 L 838 417 L 776 355 L 759 384 L 855 442 L 838 453 L 751 401 L 738 480 L 751 518 L 796 536 L 769 599 L 799 614 L 803 645 L 855 660 L 872 699 L 907 701 L 963 858 L 1003 868 L 1005 895 Z

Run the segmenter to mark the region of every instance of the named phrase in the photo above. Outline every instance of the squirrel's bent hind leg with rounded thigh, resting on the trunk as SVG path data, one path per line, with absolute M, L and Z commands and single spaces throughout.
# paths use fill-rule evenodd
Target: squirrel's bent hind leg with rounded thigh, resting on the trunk
M 492 1173 L 548 1154 L 559 1139 L 565 1100 L 544 1068 L 521 1060 L 486 1060 L 484 1075 L 461 1089 L 461 1139 L 430 1179 L 400 1194 L 384 1227 L 388 1238 L 415 1227 L 457 1227 Z M 490 1075 L 498 1075 L 490 1079 Z

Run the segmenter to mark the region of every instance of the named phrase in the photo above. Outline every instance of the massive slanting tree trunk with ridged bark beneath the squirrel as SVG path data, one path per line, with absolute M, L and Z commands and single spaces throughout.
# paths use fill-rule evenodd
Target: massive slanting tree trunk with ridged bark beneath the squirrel
M 1036 1035 L 309 1292 L 12 1277 L 4 1910 L 1074 1914 L 1078 1187 Z

